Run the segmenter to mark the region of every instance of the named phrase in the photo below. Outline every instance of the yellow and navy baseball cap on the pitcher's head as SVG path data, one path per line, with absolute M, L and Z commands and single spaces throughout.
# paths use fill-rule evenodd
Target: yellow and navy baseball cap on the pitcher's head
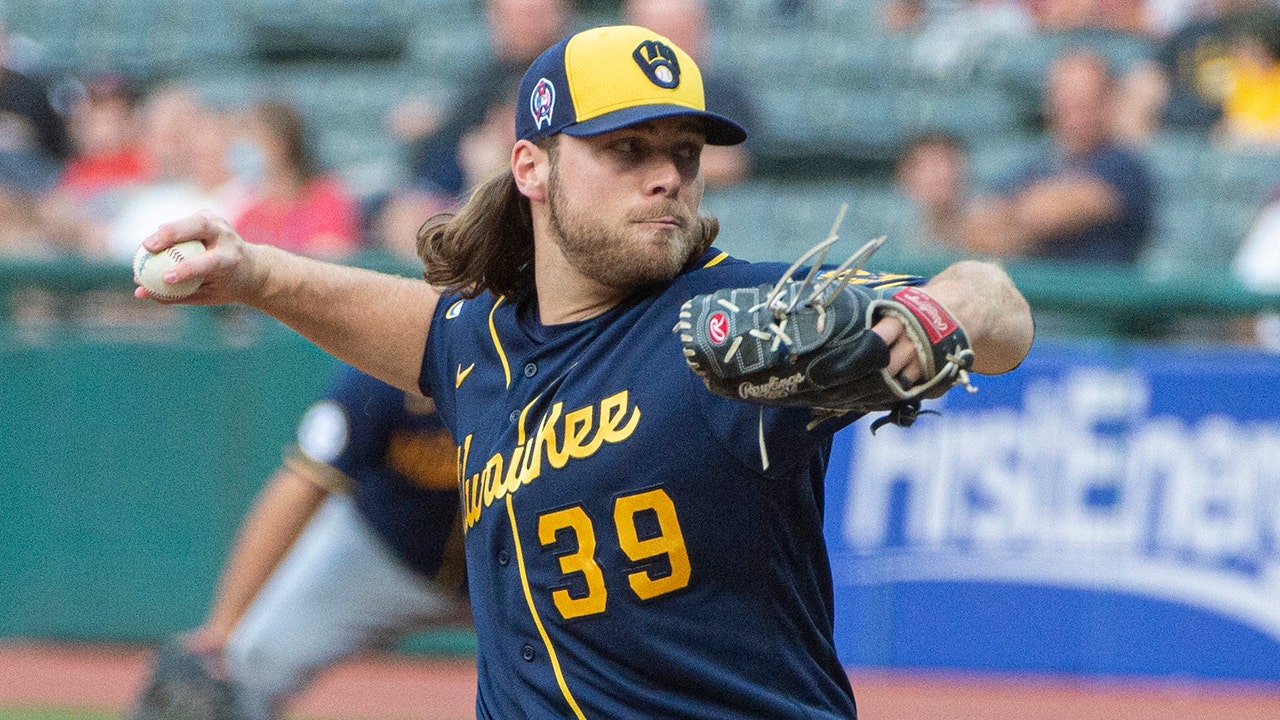
M 585 137 L 676 115 L 701 118 L 708 145 L 746 140 L 741 126 L 707 110 L 703 74 L 687 53 L 639 26 L 596 27 L 559 41 L 525 70 L 516 137 Z

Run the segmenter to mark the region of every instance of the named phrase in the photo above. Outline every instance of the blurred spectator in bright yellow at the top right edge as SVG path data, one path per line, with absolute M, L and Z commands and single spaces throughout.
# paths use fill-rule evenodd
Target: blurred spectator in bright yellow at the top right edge
M 1219 140 L 1280 146 L 1280 10 L 1233 15 Z

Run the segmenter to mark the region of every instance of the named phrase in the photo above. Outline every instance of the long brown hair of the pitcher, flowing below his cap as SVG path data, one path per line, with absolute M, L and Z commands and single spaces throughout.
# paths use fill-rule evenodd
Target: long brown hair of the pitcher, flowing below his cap
M 558 136 L 539 143 L 556 161 Z M 698 218 L 698 258 L 716 240 L 719 220 Z M 534 219 L 511 170 L 480 184 L 457 213 L 433 215 L 417 231 L 426 282 L 445 293 L 521 297 L 534 290 Z

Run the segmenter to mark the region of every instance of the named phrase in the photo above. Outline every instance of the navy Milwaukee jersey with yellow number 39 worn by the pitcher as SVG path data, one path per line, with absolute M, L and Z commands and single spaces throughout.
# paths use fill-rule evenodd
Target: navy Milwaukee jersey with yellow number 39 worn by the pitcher
M 694 295 L 785 270 L 712 250 L 558 325 L 442 299 L 421 387 L 457 442 L 479 717 L 855 716 L 822 536 L 852 418 L 714 396 L 672 333 Z

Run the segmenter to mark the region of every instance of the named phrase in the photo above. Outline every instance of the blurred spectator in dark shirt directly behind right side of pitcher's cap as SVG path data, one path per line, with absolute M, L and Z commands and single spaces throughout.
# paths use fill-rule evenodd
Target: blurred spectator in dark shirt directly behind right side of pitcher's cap
M 703 147 L 703 178 L 708 190 L 731 186 L 751 172 L 750 137 L 754 110 L 739 78 L 709 58 L 710 24 L 704 0 L 625 0 L 622 19 L 668 37 L 703 70 L 707 109 L 733 118 L 746 128 L 748 142 Z

